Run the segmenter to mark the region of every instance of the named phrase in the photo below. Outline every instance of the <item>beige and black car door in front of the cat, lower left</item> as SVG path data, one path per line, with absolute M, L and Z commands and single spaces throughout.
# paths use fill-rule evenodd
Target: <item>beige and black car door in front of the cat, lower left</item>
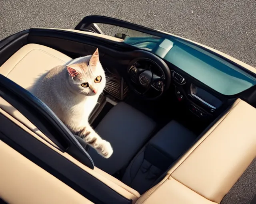
M 26 124 L 0 109 L 2 200 L 14 204 L 133 202 L 119 193 L 123 188 L 118 191 L 114 182 L 106 184 L 110 175 L 103 182 L 88 173 L 95 167 L 84 147 L 30 92 L 0 75 L 0 97 L 1 103 L 7 102 L 46 135 L 38 137 Z

